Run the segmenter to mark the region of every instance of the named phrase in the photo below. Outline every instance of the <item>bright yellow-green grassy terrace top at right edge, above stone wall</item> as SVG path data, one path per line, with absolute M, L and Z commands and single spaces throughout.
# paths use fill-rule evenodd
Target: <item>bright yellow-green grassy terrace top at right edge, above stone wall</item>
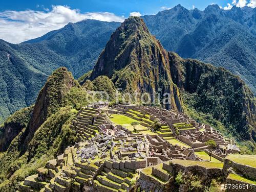
M 256 167 L 256 155 L 228 155 L 226 159 L 240 164 Z

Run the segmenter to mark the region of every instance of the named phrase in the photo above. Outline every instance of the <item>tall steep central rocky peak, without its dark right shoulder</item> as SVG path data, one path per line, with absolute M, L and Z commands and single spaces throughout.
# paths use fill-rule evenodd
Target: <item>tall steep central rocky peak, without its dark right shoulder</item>
M 112 79 L 116 88 L 131 93 L 170 93 L 166 108 L 183 111 L 177 86 L 170 75 L 168 54 L 139 17 L 126 19 L 111 36 L 92 71 Z

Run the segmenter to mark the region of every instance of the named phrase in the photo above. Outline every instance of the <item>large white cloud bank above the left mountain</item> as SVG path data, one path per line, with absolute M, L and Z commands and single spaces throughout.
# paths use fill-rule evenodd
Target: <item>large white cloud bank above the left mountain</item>
M 0 12 L 0 38 L 11 43 L 19 43 L 62 28 L 69 22 L 83 19 L 122 22 L 124 16 L 117 16 L 109 12 L 80 13 L 78 9 L 60 5 L 52 6 L 51 11 L 46 9 L 45 11 L 8 10 Z

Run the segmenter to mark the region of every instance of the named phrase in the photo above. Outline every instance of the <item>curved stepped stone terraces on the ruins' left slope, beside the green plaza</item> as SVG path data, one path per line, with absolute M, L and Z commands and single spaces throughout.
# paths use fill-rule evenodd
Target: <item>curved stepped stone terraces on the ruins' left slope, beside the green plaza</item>
M 84 141 L 92 138 L 98 132 L 99 126 L 106 122 L 100 115 L 100 111 L 94 108 L 82 108 L 76 118 L 72 121 L 71 128 L 76 130 L 78 141 Z

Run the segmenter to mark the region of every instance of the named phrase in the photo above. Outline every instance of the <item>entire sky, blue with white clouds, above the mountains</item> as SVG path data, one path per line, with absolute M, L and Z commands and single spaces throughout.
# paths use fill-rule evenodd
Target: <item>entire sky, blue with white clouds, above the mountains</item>
M 0 39 L 20 43 L 60 29 L 83 19 L 122 22 L 130 15 L 151 15 L 181 4 L 187 9 L 204 10 L 218 4 L 256 7 L 256 0 L 2 0 L 0 1 Z

